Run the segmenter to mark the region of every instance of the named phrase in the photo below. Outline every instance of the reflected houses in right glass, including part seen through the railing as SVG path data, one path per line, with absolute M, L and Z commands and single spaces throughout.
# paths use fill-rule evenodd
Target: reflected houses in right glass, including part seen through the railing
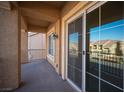
M 92 42 L 90 43 L 90 56 L 106 61 L 122 63 L 124 53 L 123 45 L 123 41 L 116 40 L 101 40 Z

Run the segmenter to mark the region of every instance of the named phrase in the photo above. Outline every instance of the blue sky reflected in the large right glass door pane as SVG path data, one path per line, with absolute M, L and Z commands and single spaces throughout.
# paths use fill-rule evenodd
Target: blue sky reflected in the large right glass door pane
M 101 40 L 122 40 L 124 35 L 124 19 L 111 22 L 111 23 L 102 25 L 100 27 L 91 28 L 90 40 L 92 41 L 98 40 L 99 28 L 100 28 Z

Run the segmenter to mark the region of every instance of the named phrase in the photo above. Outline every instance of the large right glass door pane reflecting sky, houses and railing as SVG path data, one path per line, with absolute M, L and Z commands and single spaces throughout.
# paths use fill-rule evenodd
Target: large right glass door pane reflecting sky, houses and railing
M 124 2 L 87 13 L 86 90 L 124 89 Z

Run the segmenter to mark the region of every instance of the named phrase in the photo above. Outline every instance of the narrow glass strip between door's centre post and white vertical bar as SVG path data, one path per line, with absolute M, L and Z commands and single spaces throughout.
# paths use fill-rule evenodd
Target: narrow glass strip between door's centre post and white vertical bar
M 86 91 L 99 91 L 99 9 L 86 18 Z

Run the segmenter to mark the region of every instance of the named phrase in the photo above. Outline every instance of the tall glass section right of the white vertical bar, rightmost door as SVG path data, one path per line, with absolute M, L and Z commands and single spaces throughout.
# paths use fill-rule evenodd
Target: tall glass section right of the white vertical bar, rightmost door
M 123 14 L 123 2 L 107 2 L 101 6 L 100 72 L 101 79 L 110 83 L 104 84 L 105 82 L 101 81 L 101 91 L 116 91 L 115 89 L 118 90 L 118 88 L 123 90 Z M 115 85 L 115 87 L 111 84 Z M 111 90 L 109 87 L 115 89 Z

